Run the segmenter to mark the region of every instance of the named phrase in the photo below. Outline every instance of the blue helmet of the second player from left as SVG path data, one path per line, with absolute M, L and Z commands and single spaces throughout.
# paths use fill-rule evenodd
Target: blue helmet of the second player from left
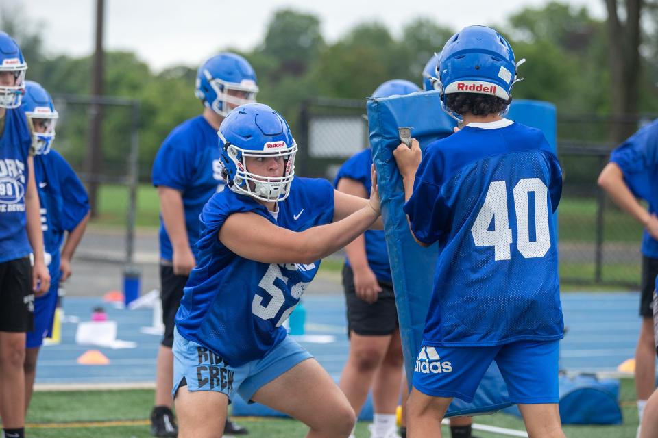
M 25 95 L 21 105 L 29 131 L 32 132 L 32 149 L 36 155 L 47 154 L 55 140 L 55 125 L 58 114 L 50 94 L 35 81 L 25 81 Z M 44 131 L 36 132 L 36 125 Z

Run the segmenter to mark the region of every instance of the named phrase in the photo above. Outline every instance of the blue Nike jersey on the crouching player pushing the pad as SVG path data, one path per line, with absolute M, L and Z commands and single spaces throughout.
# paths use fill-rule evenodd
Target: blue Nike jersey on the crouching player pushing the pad
M 313 279 L 320 261 L 267 264 L 232 253 L 219 230 L 233 213 L 251 211 L 292 231 L 332 222 L 334 194 L 324 179 L 297 178 L 277 203 L 276 219 L 249 196 L 224 190 L 201 214 L 197 267 L 190 274 L 176 313 L 179 333 L 223 357 L 232 366 L 260 359 L 286 337 L 281 326 Z M 249 242 L 245 242 L 249 245 Z

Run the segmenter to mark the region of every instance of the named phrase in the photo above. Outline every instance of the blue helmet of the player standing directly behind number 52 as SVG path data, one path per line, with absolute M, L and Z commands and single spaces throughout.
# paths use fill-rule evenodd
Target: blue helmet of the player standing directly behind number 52
M 243 92 L 243 98 L 228 92 Z M 235 53 L 219 53 L 199 67 L 195 96 L 217 114 L 226 117 L 234 107 L 256 102 L 256 73 L 245 58 Z

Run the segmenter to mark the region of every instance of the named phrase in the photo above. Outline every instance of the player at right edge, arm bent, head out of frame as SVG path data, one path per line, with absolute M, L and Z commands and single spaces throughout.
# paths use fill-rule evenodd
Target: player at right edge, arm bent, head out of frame
M 644 227 L 639 301 L 642 326 L 635 348 L 635 391 L 642 422 L 644 405 L 655 388 L 656 375 L 651 298 L 658 275 L 658 120 L 639 129 L 612 152 L 598 184 Z M 637 198 L 644 199 L 648 207 L 643 207 Z

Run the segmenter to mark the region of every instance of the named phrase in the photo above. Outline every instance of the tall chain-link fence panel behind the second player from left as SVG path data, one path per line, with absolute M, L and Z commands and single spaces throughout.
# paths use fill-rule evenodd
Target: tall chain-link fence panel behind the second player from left
M 117 235 L 78 255 L 87 259 L 125 263 L 130 268 L 134 255 L 136 197 L 138 188 L 139 102 L 109 96 L 54 96 L 59 120 L 54 144 L 90 191 L 97 215 L 93 220 L 119 230 Z M 92 119 L 101 114 L 99 131 L 93 136 Z M 97 164 L 90 151 L 96 140 Z M 157 220 L 157 218 L 155 218 Z M 157 222 L 155 222 L 157 223 Z

